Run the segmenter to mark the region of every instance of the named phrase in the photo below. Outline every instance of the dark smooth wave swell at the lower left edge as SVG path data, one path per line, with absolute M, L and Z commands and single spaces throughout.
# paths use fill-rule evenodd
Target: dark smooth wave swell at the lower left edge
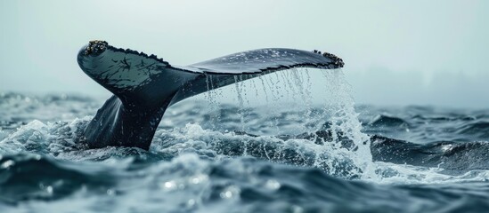
M 110 173 L 94 172 L 38 154 L 0 155 L 0 202 L 4 204 L 53 201 L 80 190 L 105 193 L 113 184 L 111 179 Z

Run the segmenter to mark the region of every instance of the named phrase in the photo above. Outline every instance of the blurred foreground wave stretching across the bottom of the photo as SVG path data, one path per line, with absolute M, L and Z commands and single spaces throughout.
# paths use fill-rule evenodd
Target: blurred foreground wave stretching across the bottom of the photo
M 2 160 L 4 164 L 11 164 L 6 170 L 23 168 L 25 172 L 2 183 L 2 187 L 8 184 L 12 192 L 25 192 L 6 193 L 12 205 L 4 207 L 7 210 L 229 212 L 239 206 L 240 212 L 420 212 L 480 211 L 489 207 L 488 189 L 477 183 L 377 185 L 331 177 L 319 169 L 249 157 L 215 162 L 187 153 L 132 172 L 117 167 L 114 172 L 111 168 L 112 176 L 80 167 L 83 164 L 73 169 L 43 157 L 8 156 Z M 472 193 L 463 193 L 467 190 Z

